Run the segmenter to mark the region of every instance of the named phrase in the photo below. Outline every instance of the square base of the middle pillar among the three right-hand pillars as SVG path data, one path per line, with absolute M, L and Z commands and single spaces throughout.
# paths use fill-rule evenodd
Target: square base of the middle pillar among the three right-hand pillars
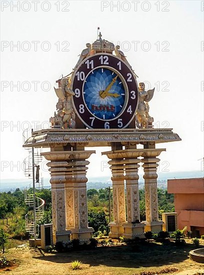
M 123 223 L 124 227 L 124 238 L 133 239 L 135 237 L 144 238 L 144 223 Z

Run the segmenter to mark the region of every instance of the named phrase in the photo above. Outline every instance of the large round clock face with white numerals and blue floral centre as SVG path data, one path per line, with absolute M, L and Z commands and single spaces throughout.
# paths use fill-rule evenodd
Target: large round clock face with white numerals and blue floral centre
M 124 128 L 137 104 L 132 71 L 114 55 L 99 53 L 84 59 L 72 82 L 74 109 L 89 128 Z

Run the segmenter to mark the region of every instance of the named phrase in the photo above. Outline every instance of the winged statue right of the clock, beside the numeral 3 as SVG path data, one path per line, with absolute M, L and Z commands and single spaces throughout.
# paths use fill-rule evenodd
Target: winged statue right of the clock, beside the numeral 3
M 153 117 L 148 113 L 149 105 L 148 101 L 153 97 L 154 88 L 151 90 L 144 90 L 145 85 L 143 82 L 139 83 L 138 90 L 138 105 L 136 109 L 136 126 L 138 128 L 152 127 Z

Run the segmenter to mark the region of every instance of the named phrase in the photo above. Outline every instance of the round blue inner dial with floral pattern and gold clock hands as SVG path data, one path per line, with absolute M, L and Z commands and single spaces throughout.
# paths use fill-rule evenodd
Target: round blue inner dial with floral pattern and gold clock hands
M 109 120 L 122 111 L 125 89 L 118 74 L 108 68 L 98 67 L 86 76 L 83 97 L 91 114 Z

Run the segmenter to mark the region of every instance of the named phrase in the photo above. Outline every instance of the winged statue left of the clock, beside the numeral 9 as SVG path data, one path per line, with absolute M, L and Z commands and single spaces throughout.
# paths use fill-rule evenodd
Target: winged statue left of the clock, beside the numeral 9
M 69 88 L 69 80 L 69 78 L 62 78 L 61 87 L 54 88 L 59 98 L 56 104 L 57 113 L 54 112 L 54 117 L 57 118 L 62 128 L 75 127 L 75 113 L 71 102 L 71 96 L 75 93 Z

